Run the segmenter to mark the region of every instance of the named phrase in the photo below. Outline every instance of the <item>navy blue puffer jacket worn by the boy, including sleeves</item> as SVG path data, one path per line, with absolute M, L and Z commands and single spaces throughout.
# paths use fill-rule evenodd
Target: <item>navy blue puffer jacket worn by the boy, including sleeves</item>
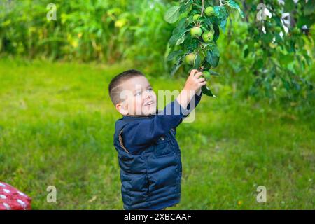
M 201 96 L 195 96 L 197 106 Z M 174 113 L 176 108 L 180 113 Z M 179 203 L 182 166 L 176 127 L 193 109 L 186 111 L 174 100 L 157 115 L 117 120 L 114 146 L 124 209 L 164 209 Z M 172 115 L 165 115 L 168 110 Z

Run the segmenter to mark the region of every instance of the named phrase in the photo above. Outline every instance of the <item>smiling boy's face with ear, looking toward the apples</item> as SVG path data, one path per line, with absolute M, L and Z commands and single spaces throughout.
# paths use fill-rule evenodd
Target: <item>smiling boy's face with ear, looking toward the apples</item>
M 125 100 L 116 105 L 120 113 L 130 116 L 148 116 L 156 113 L 156 94 L 146 77 L 136 76 L 122 85 L 124 90 L 120 96 Z

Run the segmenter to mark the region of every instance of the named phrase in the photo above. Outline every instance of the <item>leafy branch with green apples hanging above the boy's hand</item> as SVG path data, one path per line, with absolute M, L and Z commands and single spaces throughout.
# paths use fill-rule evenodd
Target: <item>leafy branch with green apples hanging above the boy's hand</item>
M 181 66 L 203 71 L 206 80 L 211 76 L 220 76 L 211 70 L 216 68 L 220 61 L 216 44 L 220 28 L 225 31 L 231 10 L 238 10 L 242 18 L 244 13 L 235 1 L 219 2 L 220 5 L 215 6 L 211 0 L 181 0 L 179 6 L 173 6 L 165 13 L 167 22 L 179 21 L 169 39 L 171 51 L 167 61 L 174 62 L 172 76 Z M 216 97 L 207 85 L 202 86 L 202 93 Z

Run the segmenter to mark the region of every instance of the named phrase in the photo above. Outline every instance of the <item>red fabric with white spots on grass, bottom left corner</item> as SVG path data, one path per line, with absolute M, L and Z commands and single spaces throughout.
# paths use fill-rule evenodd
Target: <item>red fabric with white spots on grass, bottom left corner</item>
M 0 182 L 0 210 L 31 210 L 31 198 L 8 183 Z

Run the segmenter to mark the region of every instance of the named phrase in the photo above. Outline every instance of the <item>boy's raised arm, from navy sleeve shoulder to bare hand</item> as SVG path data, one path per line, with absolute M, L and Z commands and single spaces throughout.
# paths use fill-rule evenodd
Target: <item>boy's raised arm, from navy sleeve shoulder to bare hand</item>
M 188 116 L 190 111 L 200 102 L 200 88 L 206 84 L 201 72 L 193 70 L 186 81 L 186 85 L 179 96 L 165 106 L 162 114 L 159 113 L 153 119 L 143 119 L 126 125 L 123 128 L 123 139 L 126 148 L 131 153 L 137 153 L 156 141 L 171 128 L 178 126 L 183 118 Z M 197 94 L 196 94 L 197 91 Z M 190 106 L 190 101 L 195 96 L 195 106 Z

